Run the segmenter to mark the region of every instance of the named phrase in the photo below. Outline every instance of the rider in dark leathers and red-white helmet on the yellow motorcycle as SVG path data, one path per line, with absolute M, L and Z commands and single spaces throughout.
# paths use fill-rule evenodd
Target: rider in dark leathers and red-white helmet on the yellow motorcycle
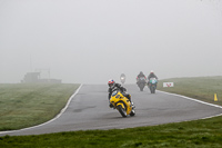
M 110 80 L 108 81 L 108 86 L 109 86 L 109 89 L 108 89 L 108 92 L 109 92 L 109 96 L 108 96 L 109 102 L 110 102 L 110 98 L 111 98 L 112 91 L 114 90 L 114 88 L 118 88 L 118 89 L 122 92 L 122 95 L 123 95 L 124 97 L 127 97 L 127 98 L 130 100 L 130 102 L 132 103 L 132 101 L 131 101 L 131 96 L 130 96 L 129 93 L 125 92 L 127 89 L 123 88 L 120 83 L 115 83 L 113 79 L 110 79 Z M 113 107 L 112 103 L 110 103 L 109 106 L 110 106 L 110 108 Z

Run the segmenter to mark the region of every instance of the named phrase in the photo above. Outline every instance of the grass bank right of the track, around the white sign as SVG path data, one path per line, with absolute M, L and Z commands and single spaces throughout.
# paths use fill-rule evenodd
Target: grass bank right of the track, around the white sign
M 174 82 L 174 87 L 163 88 L 163 82 Z M 221 76 L 165 79 L 159 82 L 158 89 L 222 106 Z M 214 93 L 218 101 L 214 101 Z

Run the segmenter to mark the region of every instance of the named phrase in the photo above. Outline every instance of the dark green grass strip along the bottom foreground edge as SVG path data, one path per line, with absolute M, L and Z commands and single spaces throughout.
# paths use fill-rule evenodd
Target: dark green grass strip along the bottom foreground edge
M 212 148 L 222 147 L 222 118 L 112 130 L 0 137 L 4 148 Z

